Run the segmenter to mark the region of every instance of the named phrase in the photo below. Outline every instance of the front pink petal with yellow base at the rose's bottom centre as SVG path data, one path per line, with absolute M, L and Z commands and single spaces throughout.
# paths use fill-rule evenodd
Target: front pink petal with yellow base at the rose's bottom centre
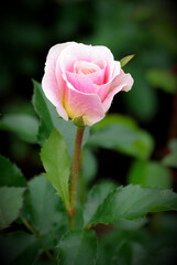
M 76 91 L 66 81 L 65 109 L 70 118 L 82 116 L 86 125 L 93 125 L 104 117 L 104 110 L 98 95 Z

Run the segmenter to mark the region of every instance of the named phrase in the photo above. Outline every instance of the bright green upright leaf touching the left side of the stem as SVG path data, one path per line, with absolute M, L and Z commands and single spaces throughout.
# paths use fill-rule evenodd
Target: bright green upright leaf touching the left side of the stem
M 68 181 L 70 173 L 70 158 L 64 138 L 54 129 L 45 141 L 41 151 L 41 159 L 45 168 L 45 177 L 49 180 L 66 206 L 69 205 Z

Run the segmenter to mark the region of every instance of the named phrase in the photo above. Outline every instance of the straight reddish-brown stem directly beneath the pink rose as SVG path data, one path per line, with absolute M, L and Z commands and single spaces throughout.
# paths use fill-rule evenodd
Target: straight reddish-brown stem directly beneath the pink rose
M 69 200 L 70 200 L 70 213 L 69 213 L 69 229 L 75 229 L 75 213 L 76 213 L 76 200 L 77 200 L 77 183 L 78 183 L 78 171 L 81 151 L 81 141 L 84 136 L 84 128 L 77 128 L 75 151 L 71 168 L 70 188 L 69 188 Z

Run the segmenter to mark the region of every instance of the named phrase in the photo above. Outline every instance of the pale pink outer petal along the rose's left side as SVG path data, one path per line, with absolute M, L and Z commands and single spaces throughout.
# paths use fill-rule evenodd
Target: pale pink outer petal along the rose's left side
M 63 107 L 63 87 L 58 86 L 55 73 L 58 56 L 62 51 L 70 44 L 73 44 L 73 42 L 56 44 L 49 50 L 45 63 L 45 73 L 42 80 L 42 88 L 45 96 L 56 106 L 58 114 L 66 120 L 68 116 Z

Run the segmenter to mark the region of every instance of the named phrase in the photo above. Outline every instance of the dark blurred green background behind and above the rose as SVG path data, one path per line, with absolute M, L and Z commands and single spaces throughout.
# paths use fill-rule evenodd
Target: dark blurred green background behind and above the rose
M 159 160 L 168 153 L 168 141 L 177 137 L 177 34 L 175 3 L 165 0 L 4 1 L 1 7 L 0 152 L 15 162 L 27 179 L 41 172 L 40 146 L 33 139 L 21 140 L 18 128 L 13 134 L 8 123 L 14 114 L 27 115 L 33 117 L 33 125 L 37 123 L 31 104 L 32 78 L 41 82 L 49 47 L 67 41 L 107 45 L 115 60 L 135 54 L 124 67 L 132 74 L 134 86 L 130 93 L 114 97 L 109 113 L 131 117 L 152 135 L 155 142 L 152 159 Z M 31 130 L 31 124 L 26 126 Z M 122 176 L 119 181 L 124 182 L 132 158 L 103 148 L 97 150 L 96 156 L 98 178 L 107 178 L 119 163 Z M 115 166 L 113 159 L 118 161 Z M 175 176 L 175 169 L 172 170 Z

